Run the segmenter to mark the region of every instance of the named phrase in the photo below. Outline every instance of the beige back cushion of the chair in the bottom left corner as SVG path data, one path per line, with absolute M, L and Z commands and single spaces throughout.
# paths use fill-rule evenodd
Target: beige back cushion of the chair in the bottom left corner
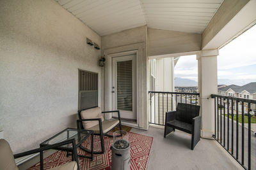
M 0 139 L 0 169 L 19 170 L 15 164 L 15 160 L 10 145 L 4 139 Z

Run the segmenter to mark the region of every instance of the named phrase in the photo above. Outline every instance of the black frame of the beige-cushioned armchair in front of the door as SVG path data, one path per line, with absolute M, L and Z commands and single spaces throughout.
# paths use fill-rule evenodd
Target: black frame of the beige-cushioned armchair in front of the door
M 97 107 L 87 108 L 87 109 L 84 109 L 84 110 L 90 110 L 90 109 L 93 109 L 93 108 L 97 108 Z M 108 132 L 111 131 L 112 129 L 114 129 L 117 125 L 119 125 L 120 130 L 122 130 L 120 111 L 115 110 L 115 111 L 102 111 L 101 112 L 101 113 L 115 113 L 115 112 L 118 113 L 118 124 L 110 122 L 110 124 L 115 124 L 115 125 L 108 128 L 109 127 L 109 120 L 104 120 L 102 122 L 101 118 L 86 118 L 86 119 L 83 119 L 81 117 L 81 112 L 84 111 L 84 110 L 79 110 L 78 111 L 79 120 L 77 120 L 77 129 L 84 129 L 83 122 L 99 121 L 99 124 L 89 128 L 89 129 L 86 129 L 86 130 L 93 131 L 94 135 L 100 136 L 101 151 L 100 152 L 93 151 L 93 154 L 102 154 L 102 153 L 104 153 L 104 138 L 103 138 L 103 136 L 108 136 L 110 138 L 113 138 L 113 135 L 109 135 Z M 110 121 L 113 121 L 113 120 L 110 120 Z M 91 153 L 90 150 L 86 150 L 86 152 Z

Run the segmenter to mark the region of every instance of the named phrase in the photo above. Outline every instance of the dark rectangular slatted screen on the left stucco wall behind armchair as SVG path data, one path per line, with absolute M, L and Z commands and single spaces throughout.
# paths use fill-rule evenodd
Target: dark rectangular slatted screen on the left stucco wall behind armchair
M 79 110 L 98 106 L 98 73 L 79 70 Z

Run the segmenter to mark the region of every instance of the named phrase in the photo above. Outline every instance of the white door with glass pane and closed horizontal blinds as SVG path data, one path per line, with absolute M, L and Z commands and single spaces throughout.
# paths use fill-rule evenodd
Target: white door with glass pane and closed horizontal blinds
M 112 109 L 120 110 L 123 120 L 136 121 L 136 55 L 113 57 Z M 113 113 L 113 117 L 117 117 Z

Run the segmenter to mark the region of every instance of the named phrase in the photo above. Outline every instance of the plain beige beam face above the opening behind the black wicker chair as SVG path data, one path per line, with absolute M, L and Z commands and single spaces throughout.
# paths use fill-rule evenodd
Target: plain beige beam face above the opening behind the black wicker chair
M 148 56 L 201 50 L 201 34 L 148 28 Z

